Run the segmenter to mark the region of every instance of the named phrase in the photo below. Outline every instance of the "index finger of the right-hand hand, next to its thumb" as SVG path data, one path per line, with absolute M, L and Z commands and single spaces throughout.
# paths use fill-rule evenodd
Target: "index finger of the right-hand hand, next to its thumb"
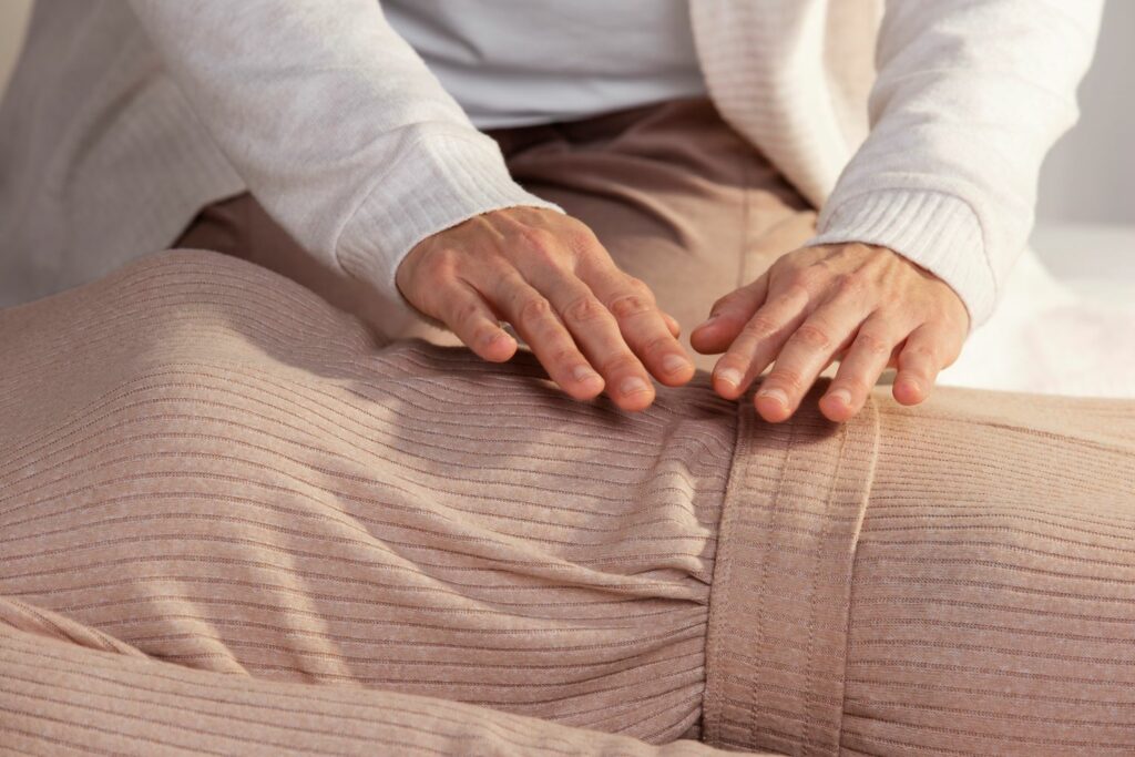
M 810 296 L 804 287 L 790 286 L 771 294 L 714 365 L 717 394 L 726 399 L 743 394 L 808 317 L 809 304 Z

